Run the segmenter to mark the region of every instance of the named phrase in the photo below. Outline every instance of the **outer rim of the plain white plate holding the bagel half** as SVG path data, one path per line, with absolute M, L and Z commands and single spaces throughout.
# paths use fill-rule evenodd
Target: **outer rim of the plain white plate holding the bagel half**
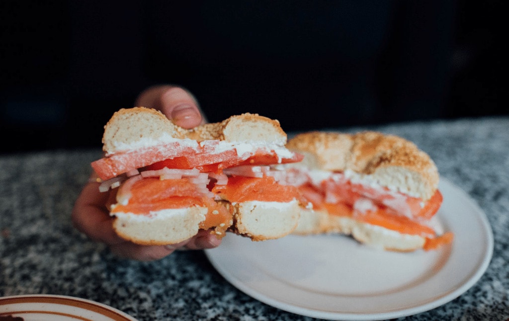
M 440 178 L 440 185 L 445 184 L 448 185 L 447 188 L 453 189 L 454 192 L 460 194 L 465 201 L 468 202 L 468 207 L 472 208 L 472 212 L 474 212 L 474 217 L 479 220 L 479 229 L 482 230 L 486 238 L 483 238 L 486 246 L 483 247 L 486 251 L 483 251 L 484 255 L 479 255 L 479 264 L 476 266 L 475 270 L 469 271 L 468 274 L 465 275 L 465 279 L 462 282 L 458 283 L 458 286 L 449 291 L 448 293 L 441 295 L 440 297 L 433 299 L 428 303 L 423 303 L 417 306 L 402 308 L 394 311 L 387 312 L 373 312 L 373 313 L 338 313 L 338 312 L 327 312 L 322 310 L 314 310 L 306 307 L 300 307 L 288 303 L 284 303 L 281 301 L 274 300 L 267 295 L 260 293 L 257 289 L 251 288 L 248 284 L 242 282 L 240 279 L 231 275 L 227 269 L 224 269 L 223 266 L 219 264 L 215 260 L 214 257 L 214 249 L 205 250 L 205 254 L 212 266 L 219 272 L 219 274 L 230 284 L 241 290 L 244 294 L 262 302 L 267 305 L 270 305 L 275 308 L 279 308 L 281 310 L 297 313 L 303 316 L 309 317 L 318 317 L 324 319 L 331 320 L 352 320 L 352 321 L 361 321 L 361 320 L 377 320 L 377 319 L 390 319 L 397 317 L 404 317 L 409 315 L 414 315 L 417 313 L 426 312 L 437 308 L 447 302 L 450 302 L 462 294 L 464 294 L 470 287 L 472 287 L 486 272 L 493 257 L 494 250 L 494 236 L 493 230 L 489 223 L 488 217 L 486 213 L 478 206 L 477 202 L 471 198 L 465 191 L 459 188 L 454 183 L 450 182 L 447 179 Z M 439 186 L 440 186 L 439 185 Z

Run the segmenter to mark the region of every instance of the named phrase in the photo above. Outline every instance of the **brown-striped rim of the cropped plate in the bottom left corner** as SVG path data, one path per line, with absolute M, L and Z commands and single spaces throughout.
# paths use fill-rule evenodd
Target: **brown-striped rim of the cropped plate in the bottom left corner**
M 47 301 L 47 300 L 50 300 L 50 299 L 54 299 L 57 302 L 40 302 L 40 301 L 31 302 L 30 301 L 30 299 L 37 299 L 37 298 L 43 299 L 42 301 Z M 23 301 L 23 299 L 26 299 L 26 300 Z M 21 302 L 9 302 L 9 301 L 19 301 L 19 300 L 21 300 Z M 68 302 L 68 301 L 76 301 L 76 302 L 79 302 L 79 303 L 81 303 L 83 305 L 95 306 L 97 308 L 100 308 L 101 310 L 106 310 L 106 311 L 112 313 L 112 315 L 115 315 L 117 317 L 113 318 L 110 315 L 106 315 L 106 314 L 103 314 L 103 315 L 107 316 L 107 317 L 110 317 L 112 319 L 115 319 L 115 320 L 119 320 L 119 321 L 123 321 L 123 320 L 138 321 L 136 318 L 134 318 L 133 316 L 127 314 L 126 312 L 123 312 L 123 311 L 121 311 L 121 310 L 119 310 L 117 308 L 114 308 L 112 306 L 106 305 L 104 303 L 93 301 L 93 300 L 89 300 L 89 299 L 79 298 L 79 297 L 67 296 L 67 295 L 24 294 L 24 295 L 5 296 L 5 297 L 0 297 L 0 307 L 2 307 L 4 305 L 18 304 L 18 303 L 53 303 L 53 304 L 58 304 L 58 305 L 64 305 L 64 306 L 70 306 L 70 307 L 77 307 L 77 308 L 86 309 L 86 308 L 80 306 L 79 304 L 76 304 L 76 305 L 66 304 L 65 302 Z M 58 312 L 58 311 L 54 311 L 54 312 Z M 93 312 L 97 312 L 99 314 L 102 314 L 100 311 L 99 312 L 98 311 L 93 311 Z M 6 312 L 0 311 L 0 315 L 6 314 L 6 313 L 9 314 L 11 312 L 9 312 L 9 311 L 6 311 Z

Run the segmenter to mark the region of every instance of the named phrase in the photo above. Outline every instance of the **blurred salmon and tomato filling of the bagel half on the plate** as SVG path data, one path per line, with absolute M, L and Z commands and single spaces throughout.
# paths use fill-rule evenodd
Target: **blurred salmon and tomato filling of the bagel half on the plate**
M 452 240 L 450 233 L 438 237 L 441 231 L 432 221 L 442 203 L 438 189 L 430 199 L 423 200 L 381 186 L 369 176 L 306 168 L 289 169 L 288 179 L 288 183 L 298 187 L 308 209 L 425 238 L 425 249 Z

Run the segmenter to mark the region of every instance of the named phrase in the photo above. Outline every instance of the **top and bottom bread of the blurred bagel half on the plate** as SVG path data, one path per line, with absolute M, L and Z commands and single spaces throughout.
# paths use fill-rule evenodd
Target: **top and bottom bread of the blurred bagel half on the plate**
M 313 131 L 294 136 L 287 148 L 304 154 L 301 163 L 288 167 L 316 173 L 318 182 L 313 184 L 319 184 L 322 175 L 341 172 L 355 182 L 419 197 L 423 202 L 438 188 L 439 173 L 433 160 L 402 137 L 374 131 L 356 134 Z M 301 209 L 300 217 L 293 232 L 296 235 L 343 234 L 365 245 L 403 252 L 423 248 L 426 243 L 424 236 L 362 222 L 355 215 L 305 208 Z

